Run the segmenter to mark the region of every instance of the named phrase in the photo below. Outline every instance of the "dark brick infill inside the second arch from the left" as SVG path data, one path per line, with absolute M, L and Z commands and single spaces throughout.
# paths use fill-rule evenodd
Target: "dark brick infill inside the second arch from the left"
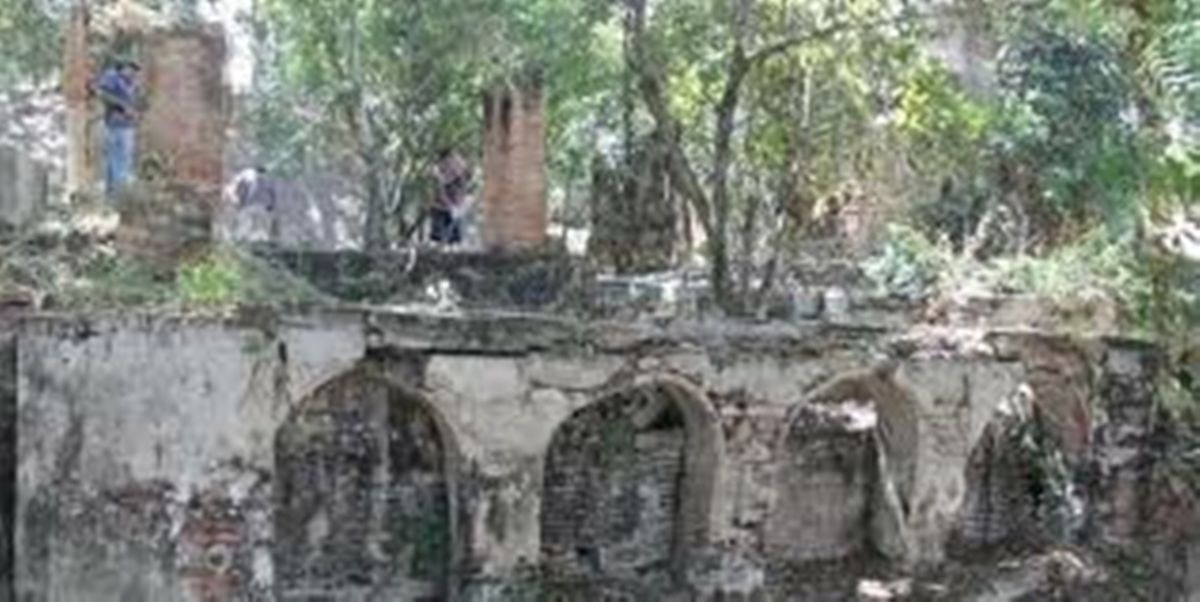
M 551 582 L 582 582 L 596 590 L 580 594 L 593 597 L 605 586 L 670 584 L 685 437 L 679 409 L 646 391 L 600 402 L 559 428 L 542 492 Z

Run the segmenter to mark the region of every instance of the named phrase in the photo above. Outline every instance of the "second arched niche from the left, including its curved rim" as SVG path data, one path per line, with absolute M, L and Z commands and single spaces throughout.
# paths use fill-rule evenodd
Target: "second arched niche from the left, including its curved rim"
M 722 456 L 716 414 L 671 378 L 646 378 L 575 411 L 546 453 L 541 561 L 571 595 L 652 595 L 706 544 Z

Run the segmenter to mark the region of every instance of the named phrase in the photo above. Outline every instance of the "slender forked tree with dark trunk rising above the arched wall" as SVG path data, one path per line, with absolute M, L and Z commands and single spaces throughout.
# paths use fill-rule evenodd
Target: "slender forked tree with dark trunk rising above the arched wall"
M 731 283 L 731 216 L 734 193 L 731 189 L 731 173 L 734 164 L 736 138 L 742 133 L 739 118 L 745 84 L 766 65 L 781 56 L 787 56 L 794 49 L 815 44 L 842 44 L 856 36 L 876 34 L 881 30 L 895 30 L 912 14 L 890 6 L 888 2 L 852 2 L 841 11 L 833 6 L 811 7 L 800 18 L 781 18 L 790 16 L 788 2 L 756 0 L 730 0 L 719 4 L 713 12 L 707 12 L 697 2 L 680 0 L 673 6 L 659 5 L 656 14 L 671 14 L 672 7 L 686 5 L 686 11 L 697 14 L 696 20 L 725 23 L 708 31 L 709 46 L 701 46 L 708 56 L 700 58 L 701 77 L 707 79 L 713 90 L 713 100 L 708 103 L 712 126 L 710 144 L 704 149 L 707 161 L 704 176 L 697 168 L 692 155 L 685 149 L 689 138 L 684 124 L 676 114 L 672 103 L 671 61 L 661 46 L 655 46 L 655 24 L 650 23 L 646 0 L 624 0 L 630 11 L 630 68 L 636 73 L 638 89 L 647 110 L 656 126 L 668 140 L 668 165 L 676 188 L 695 206 L 700 222 L 708 235 L 708 255 L 710 277 L 718 303 L 728 311 L 739 311 L 739 301 Z M 824 11 L 822 10 L 824 8 Z M 661 17 L 658 24 L 658 36 L 665 37 Z M 674 22 L 674 26 L 679 26 Z M 686 26 L 696 28 L 696 22 L 685 22 Z M 703 30 L 703 26 L 700 26 Z M 692 36 L 694 43 L 696 42 Z M 702 43 L 703 43 L 702 42 Z M 698 46 L 698 44 L 697 44 Z M 714 60 L 713 56 L 716 56 Z M 690 56 L 689 56 L 690 58 Z M 715 66 L 703 65 L 715 64 Z M 707 68 L 706 68 L 707 67 Z M 715 73 L 714 73 L 715 72 Z M 797 145 L 793 144 L 793 148 Z

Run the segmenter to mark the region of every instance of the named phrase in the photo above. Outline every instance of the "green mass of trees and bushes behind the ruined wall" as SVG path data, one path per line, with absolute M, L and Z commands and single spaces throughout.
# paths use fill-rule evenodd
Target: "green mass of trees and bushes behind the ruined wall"
M 7 80 L 53 73 L 65 7 L 0 4 Z M 262 0 L 244 17 L 245 138 L 283 175 L 353 181 L 371 247 L 413 231 L 439 146 L 479 148 L 479 91 L 534 67 L 554 213 L 587 213 L 593 165 L 630 189 L 638 157 L 662 157 L 728 313 L 760 313 L 828 200 L 856 191 L 892 224 L 864 264 L 884 291 L 1103 296 L 1135 329 L 1195 329 L 1193 269 L 1154 229 L 1200 211 L 1196 0 Z M 88 294 L 259 295 L 229 258 L 167 282 L 120 263 L 97 259 Z

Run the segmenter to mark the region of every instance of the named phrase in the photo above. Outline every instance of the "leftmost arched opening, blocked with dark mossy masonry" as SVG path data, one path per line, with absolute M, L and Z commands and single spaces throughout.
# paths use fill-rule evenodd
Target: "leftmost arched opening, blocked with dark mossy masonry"
M 281 600 L 445 600 L 454 524 L 446 433 L 364 372 L 322 386 L 275 441 Z

